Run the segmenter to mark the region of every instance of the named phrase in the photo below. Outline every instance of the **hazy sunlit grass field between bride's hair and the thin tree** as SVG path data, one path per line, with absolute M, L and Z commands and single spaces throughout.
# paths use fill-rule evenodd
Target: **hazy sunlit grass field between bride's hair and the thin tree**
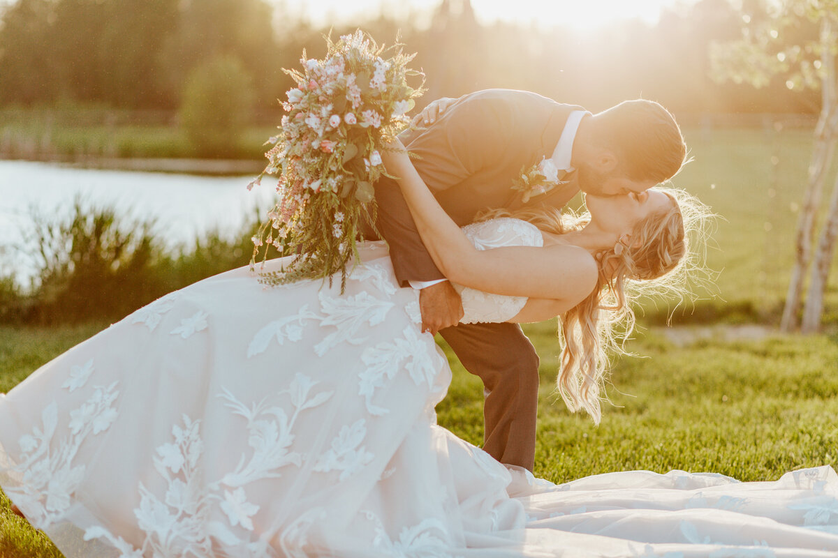
M 684 135 L 694 161 L 673 183 L 701 198 L 722 219 L 707 251 L 707 264 L 718 272 L 718 297 L 701 301 L 695 315 L 680 321 L 711 321 L 721 316 L 731 322 L 779 324 L 794 264 L 811 131 L 688 128 Z M 831 180 L 824 198 L 830 187 Z M 827 203 L 822 205 L 825 212 Z M 838 259 L 831 271 L 825 320 L 836 323 Z M 709 297 L 712 290 L 704 292 Z M 676 318 L 679 315 L 680 311 Z

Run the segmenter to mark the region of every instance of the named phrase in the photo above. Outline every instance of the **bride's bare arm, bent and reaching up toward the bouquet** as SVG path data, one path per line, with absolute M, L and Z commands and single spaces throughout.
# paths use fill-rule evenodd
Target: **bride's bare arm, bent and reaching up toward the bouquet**
M 595 287 L 597 264 L 582 248 L 474 248 L 422 182 L 401 141 L 391 147 L 395 151 L 384 156 L 387 171 L 397 177 L 422 243 L 447 279 L 488 293 L 573 304 Z

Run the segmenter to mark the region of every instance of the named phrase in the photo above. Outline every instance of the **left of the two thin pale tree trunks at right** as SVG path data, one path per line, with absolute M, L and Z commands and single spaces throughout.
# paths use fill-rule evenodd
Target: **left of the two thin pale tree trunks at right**
M 835 54 L 832 52 L 832 18 L 825 16 L 820 23 L 820 60 L 824 67 L 821 78 L 821 107 L 818 123 L 815 125 L 815 146 L 809 164 L 809 186 L 804 196 L 803 207 L 798 220 L 795 243 L 796 262 L 792 269 L 789 290 L 786 294 L 783 320 L 780 330 L 791 331 L 797 326 L 797 315 L 803 299 L 803 280 L 812 260 L 812 243 L 815 238 L 815 221 L 820 192 L 830 169 L 835 153 L 835 129 L 838 127 L 838 112 L 835 110 Z M 820 314 L 818 317 L 820 320 Z

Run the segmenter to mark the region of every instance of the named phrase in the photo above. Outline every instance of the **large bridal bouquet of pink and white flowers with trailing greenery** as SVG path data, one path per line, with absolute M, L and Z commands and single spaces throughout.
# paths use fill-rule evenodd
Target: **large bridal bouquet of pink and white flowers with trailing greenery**
M 361 219 L 375 220 L 373 183 L 385 174 L 381 153 L 410 119 L 422 89 L 407 84 L 413 56 L 401 45 L 378 47 L 360 31 L 337 43 L 327 38 L 324 59 L 306 59 L 302 69 L 283 69 L 297 82 L 282 103 L 280 133 L 266 141 L 268 164 L 248 185 L 277 174 L 279 201 L 252 238 L 251 269 L 264 246 L 297 253 L 281 272 L 262 273 L 276 285 L 296 279 L 329 278 L 357 255 Z

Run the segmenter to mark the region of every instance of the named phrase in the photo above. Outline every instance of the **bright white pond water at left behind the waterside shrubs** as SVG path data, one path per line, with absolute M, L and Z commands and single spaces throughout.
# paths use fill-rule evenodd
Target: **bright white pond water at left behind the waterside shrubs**
M 211 177 L 163 172 L 85 169 L 59 163 L 0 161 L 0 274 L 29 273 L 24 234 L 34 212 L 57 219 L 76 198 L 83 207 L 113 207 L 129 221 L 154 220 L 169 246 L 194 243 L 211 231 L 233 234 L 275 196 L 253 177 Z M 18 250 L 14 247 L 22 247 Z

